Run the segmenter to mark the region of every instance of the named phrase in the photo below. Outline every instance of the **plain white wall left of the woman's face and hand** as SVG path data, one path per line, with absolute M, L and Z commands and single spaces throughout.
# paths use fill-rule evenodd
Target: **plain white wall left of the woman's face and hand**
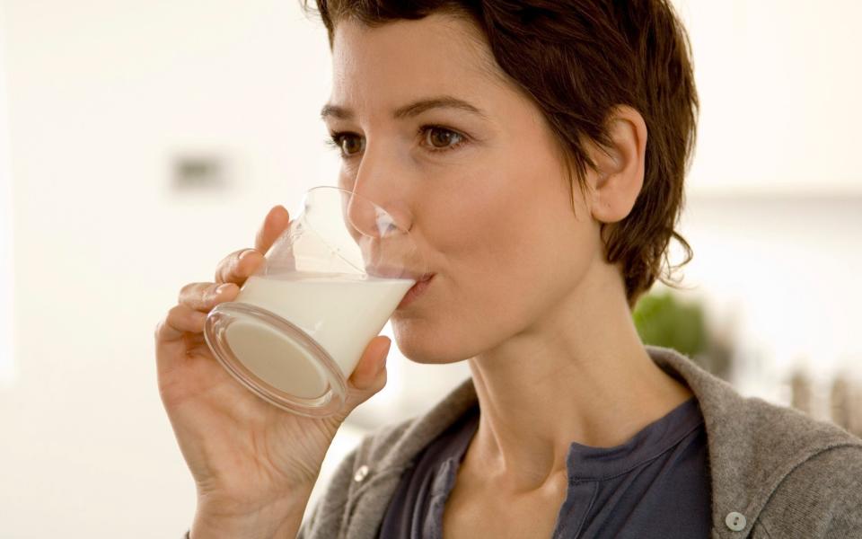
M 291 1 L 4 4 L 15 359 L 0 536 L 179 536 L 195 493 L 155 384 L 180 287 L 318 183 L 325 34 Z M 216 148 L 233 186 L 169 190 Z

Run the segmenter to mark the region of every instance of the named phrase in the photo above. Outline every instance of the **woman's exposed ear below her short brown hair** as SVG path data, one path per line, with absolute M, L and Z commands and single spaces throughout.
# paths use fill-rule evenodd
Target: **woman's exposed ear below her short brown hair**
M 590 212 L 601 223 L 616 223 L 629 215 L 644 185 L 647 123 L 638 110 L 620 105 L 611 110 L 607 126 L 611 147 L 587 146 L 598 169 L 587 174 Z

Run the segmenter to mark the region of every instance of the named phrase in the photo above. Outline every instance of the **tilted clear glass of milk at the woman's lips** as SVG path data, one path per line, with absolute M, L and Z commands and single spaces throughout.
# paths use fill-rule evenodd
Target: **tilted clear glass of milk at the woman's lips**
M 365 346 L 427 275 L 408 228 L 350 190 L 309 190 L 239 296 L 207 315 L 207 344 L 266 401 L 310 417 L 339 411 Z

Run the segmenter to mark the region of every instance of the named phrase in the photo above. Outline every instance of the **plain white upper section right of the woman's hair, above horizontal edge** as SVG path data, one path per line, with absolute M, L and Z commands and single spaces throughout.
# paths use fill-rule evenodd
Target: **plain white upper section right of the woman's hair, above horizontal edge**
M 855 0 L 675 0 L 702 101 L 690 191 L 862 192 Z

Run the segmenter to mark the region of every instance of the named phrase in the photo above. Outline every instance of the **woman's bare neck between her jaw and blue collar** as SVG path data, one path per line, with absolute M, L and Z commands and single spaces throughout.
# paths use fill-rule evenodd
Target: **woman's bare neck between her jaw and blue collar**
M 498 488 L 540 490 L 566 475 L 572 442 L 618 446 L 690 398 L 647 354 L 613 288 L 620 280 L 585 283 L 558 312 L 470 359 L 481 416 L 465 468 L 480 466 Z

